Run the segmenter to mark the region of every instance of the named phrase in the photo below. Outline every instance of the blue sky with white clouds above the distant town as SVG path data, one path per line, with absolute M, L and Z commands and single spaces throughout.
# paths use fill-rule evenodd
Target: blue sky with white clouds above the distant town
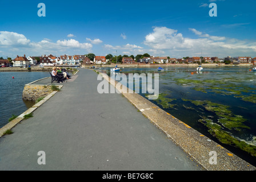
M 38 3 L 46 16 L 38 16 Z M 209 16 L 210 3 L 217 17 Z M 0 56 L 256 57 L 254 0 L 0 0 Z

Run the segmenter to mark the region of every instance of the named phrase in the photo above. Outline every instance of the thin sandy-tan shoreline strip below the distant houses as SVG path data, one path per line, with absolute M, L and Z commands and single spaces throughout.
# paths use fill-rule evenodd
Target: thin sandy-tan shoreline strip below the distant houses
M 89 64 L 89 65 L 82 65 L 81 68 L 90 68 L 90 67 L 115 67 L 117 64 Z M 62 67 L 62 65 L 55 65 L 56 67 Z M 146 67 L 146 68 L 155 68 L 155 67 L 184 67 L 184 68 L 189 68 L 189 67 L 198 67 L 198 64 L 118 64 L 119 67 L 126 67 L 126 68 L 137 68 L 137 67 Z M 238 64 L 238 65 L 233 65 L 233 64 L 216 64 L 216 63 L 206 63 L 202 64 L 202 67 L 256 67 L 256 65 L 253 64 Z M 6 68 L 0 68 L 0 72 L 29 72 L 29 71 L 51 71 L 53 67 L 45 67 L 45 68 L 39 68 L 39 67 L 31 67 L 31 70 L 27 68 L 17 68 L 17 67 L 6 67 Z

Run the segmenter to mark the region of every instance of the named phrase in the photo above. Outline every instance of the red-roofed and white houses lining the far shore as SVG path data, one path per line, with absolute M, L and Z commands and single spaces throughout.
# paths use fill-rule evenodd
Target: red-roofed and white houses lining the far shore
M 89 57 L 85 55 L 63 55 L 63 56 L 53 56 L 53 55 L 42 55 L 42 56 L 18 56 L 13 60 L 14 67 L 27 67 L 29 65 L 37 65 L 38 61 L 43 66 L 54 66 L 54 65 L 81 65 L 82 64 L 107 64 L 109 60 L 105 56 L 95 56 L 94 60 L 91 61 Z M 154 64 L 154 63 L 217 63 L 223 61 L 230 61 L 233 64 L 240 63 L 253 63 L 256 64 L 256 57 L 231 57 L 227 56 L 224 59 L 219 59 L 218 57 L 186 57 L 183 59 L 169 58 L 169 57 L 143 57 L 142 59 L 134 60 L 132 57 L 123 57 L 122 64 Z M 0 60 L 0 66 L 9 66 L 9 60 Z

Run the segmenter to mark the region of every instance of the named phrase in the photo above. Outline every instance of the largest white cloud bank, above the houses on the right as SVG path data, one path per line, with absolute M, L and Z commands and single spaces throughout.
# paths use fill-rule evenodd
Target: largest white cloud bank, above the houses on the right
M 167 27 L 153 27 L 153 32 L 145 36 L 144 44 L 155 50 L 154 52 L 164 51 L 170 57 L 201 56 L 201 50 L 205 56 L 239 56 L 239 53 L 254 56 L 255 54 L 255 42 L 212 36 L 195 28 L 189 30 L 198 38 L 186 38 L 177 30 Z

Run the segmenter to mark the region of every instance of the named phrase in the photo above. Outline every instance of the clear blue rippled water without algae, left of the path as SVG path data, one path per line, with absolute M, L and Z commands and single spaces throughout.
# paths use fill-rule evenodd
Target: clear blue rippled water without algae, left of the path
M 25 84 L 49 77 L 49 72 L 0 72 L 0 128 L 12 115 L 20 115 L 34 102 L 22 100 Z

